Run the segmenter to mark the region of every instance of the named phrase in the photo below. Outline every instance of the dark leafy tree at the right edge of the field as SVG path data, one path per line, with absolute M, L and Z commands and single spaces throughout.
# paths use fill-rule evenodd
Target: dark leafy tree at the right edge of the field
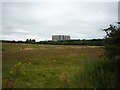
M 112 59 L 120 59 L 120 27 L 110 25 L 104 29 L 106 32 L 105 50 L 106 55 Z

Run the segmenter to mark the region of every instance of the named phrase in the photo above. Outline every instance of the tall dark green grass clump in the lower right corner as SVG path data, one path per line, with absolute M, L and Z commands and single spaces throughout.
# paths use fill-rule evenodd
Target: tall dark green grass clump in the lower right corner
M 76 75 L 78 87 L 118 88 L 117 62 L 108 59 L 96 59 L 85 65 Z

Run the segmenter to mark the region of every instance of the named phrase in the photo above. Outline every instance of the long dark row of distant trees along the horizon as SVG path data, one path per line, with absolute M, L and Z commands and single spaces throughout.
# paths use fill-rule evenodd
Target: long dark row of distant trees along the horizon
M 59 40 L 59 41 L 39 41 L 35 39 L 26 39 L 26 41 L 2 41 L 9 43 L 29 43 L 29 44 L 47 44 L 47 45 L 89 45 L 89 46 L 103 46 L 103 39 L 91 39 L 91 40 Z

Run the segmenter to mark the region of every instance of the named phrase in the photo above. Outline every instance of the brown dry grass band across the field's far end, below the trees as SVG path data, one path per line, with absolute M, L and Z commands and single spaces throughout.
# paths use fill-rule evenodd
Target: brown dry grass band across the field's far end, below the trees
M 103 50 L 96 46 L 29 45 L 3 43 L 3 61 L 59 58 L 69 56 L 99 57 Z M 19 48 L 19 49 L 18 49 Z

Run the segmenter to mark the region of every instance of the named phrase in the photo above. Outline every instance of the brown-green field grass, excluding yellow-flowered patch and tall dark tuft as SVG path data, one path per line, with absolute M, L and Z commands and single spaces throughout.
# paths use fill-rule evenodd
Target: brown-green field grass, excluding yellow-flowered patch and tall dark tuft
M 3 87 L 8 77 L 16 87 L 76 87 L 74 74 L 103 53 L 98 46 L 3 43 L 2 49 Z M 31 62 L 27 76 L 9 73 L 19 62 L 24 68 Z

